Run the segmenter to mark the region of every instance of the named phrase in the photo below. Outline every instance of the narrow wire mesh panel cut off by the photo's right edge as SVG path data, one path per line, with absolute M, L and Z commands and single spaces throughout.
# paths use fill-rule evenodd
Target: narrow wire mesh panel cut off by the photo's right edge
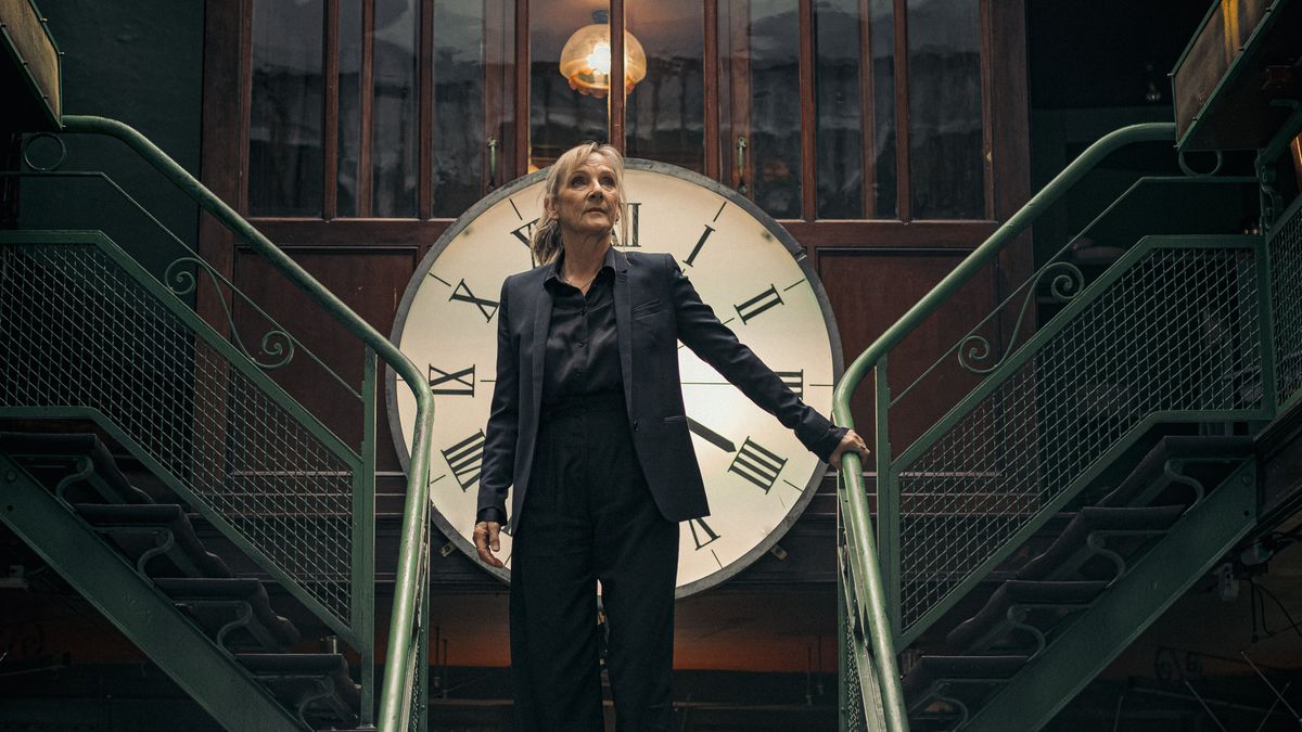
M 1271 309 L 1280 404 L 1302 391 L 1302 204 L 1271 234 Z

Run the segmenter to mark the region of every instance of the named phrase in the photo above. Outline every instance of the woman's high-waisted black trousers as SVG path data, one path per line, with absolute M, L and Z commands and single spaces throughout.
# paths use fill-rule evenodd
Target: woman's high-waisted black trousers
M 600 731 L 596 580 L 620 732 L 671 729 L 678 525 L 642 477 L 622 396 L 544 412 L 512 537 L 517 731 Z

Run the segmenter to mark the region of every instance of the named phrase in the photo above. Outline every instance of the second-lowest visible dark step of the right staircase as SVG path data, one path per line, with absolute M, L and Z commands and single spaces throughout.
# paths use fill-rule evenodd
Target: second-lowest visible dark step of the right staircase
M 1107 582 L 1009 580 L 995 590 L 980 612 L 950 630 L 945 641 L 980 651 L 992 645 L 1017 645 L 1021 633 L 1031 636 L 1039 653 L 1047 630 L 1072 611 L 1087 607 L 1107 586 Z

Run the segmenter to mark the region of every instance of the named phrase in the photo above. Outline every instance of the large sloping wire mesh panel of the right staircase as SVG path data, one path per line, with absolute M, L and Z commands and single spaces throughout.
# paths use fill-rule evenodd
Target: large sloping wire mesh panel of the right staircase
M 1146 417 L 1260 406 L 1256 296 L 1249 249 L 1154 247 L 902 465 L 905 633 Z

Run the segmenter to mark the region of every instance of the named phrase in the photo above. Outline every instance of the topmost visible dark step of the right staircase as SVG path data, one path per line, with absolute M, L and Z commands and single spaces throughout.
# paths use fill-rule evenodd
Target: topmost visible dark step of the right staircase
M 1100 507 L 1126 507 L 1147 505 L 1160 496 L 1172 483 L 1184 481 L 1172 479 L 1167 474 L 1167 462 L 1172 460 L 1200 464 L 1212 468 L 1213 475 L 1202 479 L 1203 483 L 1215 486 L 1219 478 L 1233 468 L 1232 464 L 1253 455 L 1253 438 L 1246 436 L 1165 436 L 1161 438 L 1148 455 L 1139 461 L 1139 465 L 1130 472 L 1121 485 L 1099 500 Z M 1221 464 L 1216 470 L 1216 464 Z M 1187 473 L 1187 469 L 1186 469 Z M 1195 477 L 1197 475 L 1190 475 Z M 1202 498 L 1200 495 L 1187 495 L 1193 487 L 1185 483 L 1181 498 L 1189 498 L 1187 503 Z

